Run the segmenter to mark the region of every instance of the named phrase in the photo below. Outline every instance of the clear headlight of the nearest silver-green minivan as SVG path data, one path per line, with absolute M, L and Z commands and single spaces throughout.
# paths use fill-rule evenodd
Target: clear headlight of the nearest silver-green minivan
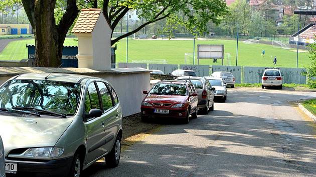
M 38 157 L 38 158 L 50 158 L 60 156 L 64 152 L 62 147 L 38 147 L 29 148 L 24 156 Z

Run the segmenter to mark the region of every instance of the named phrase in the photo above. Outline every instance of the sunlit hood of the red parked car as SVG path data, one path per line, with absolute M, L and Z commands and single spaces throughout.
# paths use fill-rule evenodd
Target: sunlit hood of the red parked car
M 164 95 L 164 94 L 148 94 L 144 99 L 146 102 L 166 102 L 166 103 L 175 103 L 175 102 L 184 102 L 188 99 L 188 95 Z

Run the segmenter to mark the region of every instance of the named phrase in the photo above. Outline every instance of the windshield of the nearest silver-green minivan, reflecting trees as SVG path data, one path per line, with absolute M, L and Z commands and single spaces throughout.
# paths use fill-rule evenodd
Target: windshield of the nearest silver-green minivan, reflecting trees
M 81 85 L 50 80 L 10 80 L 0 87 L 0 107 L 33 107 L 73 115 L 80 100 Z

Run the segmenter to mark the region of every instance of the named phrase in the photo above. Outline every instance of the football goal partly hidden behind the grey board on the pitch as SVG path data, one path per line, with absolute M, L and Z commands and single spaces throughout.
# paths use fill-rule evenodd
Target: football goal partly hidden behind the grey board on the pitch
M 207 60 L 207 64 L 214 64 L 213 59 L 200 59 L 200 64 L 204 64 L 204 62 L 201 63 L 201 61 Z M 231 55 L 230 53 L 224 53 L 224 65 L 231 65 Z M 194 53 L 194 63 L 198 64 L 198 56 L 197 53 Z M 222 59 L 218 58 L 216 63 L 222 64 Z M 193 53 L 185 53 L 185 64 L 193 64 Z

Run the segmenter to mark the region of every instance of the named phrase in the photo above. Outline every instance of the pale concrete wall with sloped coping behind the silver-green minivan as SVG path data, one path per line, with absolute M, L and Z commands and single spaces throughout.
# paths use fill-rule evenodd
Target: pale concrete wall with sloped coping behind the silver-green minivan
M 143 68 L 117 68 L 93 70 L 89 68 L 44 68 L 3 67 L 0 68 L 0 84 L 12 76 L 22 73 L 59 72 L 90 75 L 108 80 L 114 87 L 122 105 L 123 116 L 140 112 L 143 90 L 149 90 L 150 71 Z

